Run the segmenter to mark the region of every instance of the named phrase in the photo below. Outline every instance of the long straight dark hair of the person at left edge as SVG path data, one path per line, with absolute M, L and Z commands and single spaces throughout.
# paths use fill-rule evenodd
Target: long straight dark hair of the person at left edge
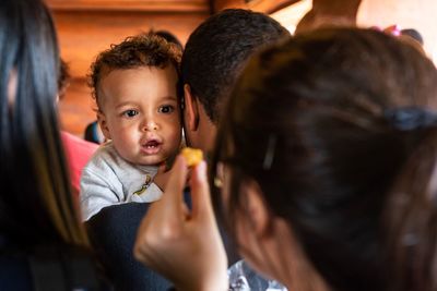
M 85 245 L 58 128 L 57 37 L 40 0 L 0 1 L 0 235 L 19 247 Z

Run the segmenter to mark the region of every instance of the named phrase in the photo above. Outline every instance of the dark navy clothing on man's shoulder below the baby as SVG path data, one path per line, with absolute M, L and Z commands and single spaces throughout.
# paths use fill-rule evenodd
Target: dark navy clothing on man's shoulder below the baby
M 137 229 L 149 203 L 127 203 L 103 208 L 85 222 L 97 256 L 116 290 L 167 290 L 170 283 L 133 257 Z

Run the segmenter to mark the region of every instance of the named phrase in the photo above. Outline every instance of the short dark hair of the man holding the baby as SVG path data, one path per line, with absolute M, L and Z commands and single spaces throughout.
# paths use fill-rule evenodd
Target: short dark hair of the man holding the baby
M 220 106 L 246 60 L 290 33 L 272 17 L 243 9 L 224 10 L 190 35 L 182 56 L 182 83 L 189 84 L 216 123 Z

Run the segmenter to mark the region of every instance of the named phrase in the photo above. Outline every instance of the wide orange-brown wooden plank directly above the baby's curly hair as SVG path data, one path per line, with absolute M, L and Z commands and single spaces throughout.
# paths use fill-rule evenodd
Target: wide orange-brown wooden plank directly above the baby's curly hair
M 185 44 L 208 14 L 56 11 L 54 16 L 62 58 L 73 77 L 85 77 L 97 53 L 111 44 L 151 28 L 169 31 Z

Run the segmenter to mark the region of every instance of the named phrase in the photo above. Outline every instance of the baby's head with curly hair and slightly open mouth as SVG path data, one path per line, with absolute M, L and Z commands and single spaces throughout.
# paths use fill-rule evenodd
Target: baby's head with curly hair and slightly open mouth
M 118 154 L 157 165 L 180 145 L 180 50 L 154 34 L 129 37 L 92 65 L 97 120 Z

